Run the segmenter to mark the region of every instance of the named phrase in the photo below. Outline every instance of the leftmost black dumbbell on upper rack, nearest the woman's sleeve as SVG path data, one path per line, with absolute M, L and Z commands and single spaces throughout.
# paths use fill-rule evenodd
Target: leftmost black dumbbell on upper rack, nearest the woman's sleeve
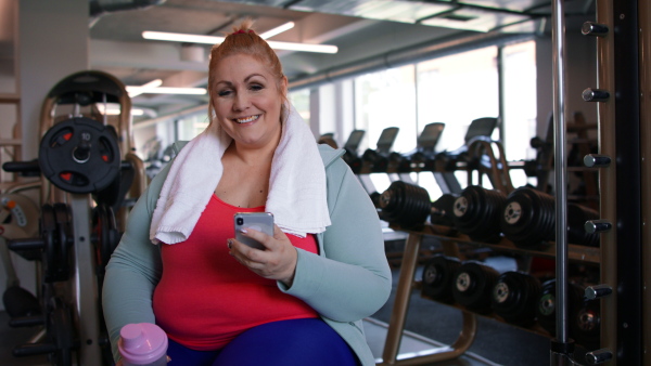
M 416 184 L 395 181 L 379 199 L 380 218 L 406 230 L 422 228 L 432 211 L 430 194 Z

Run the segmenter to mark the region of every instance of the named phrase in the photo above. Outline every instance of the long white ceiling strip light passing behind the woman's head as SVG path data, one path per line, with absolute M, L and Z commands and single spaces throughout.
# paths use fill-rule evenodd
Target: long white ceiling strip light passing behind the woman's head
M 224 42 L 224 39 L 225 39 L 224 37 L 217 37 L 217 36 L 171 34 L 171 32 L 165 32 L 165 31 L 151 31 L 151 30 L 143 31 L 142 38 L 154 39 L 154 40 L 159 40 L 159 41 L 204 43 L 204 44 L 221 43 L 221 42 Z M 331 44 L 309 44 L 309 43 L 278 42 L 278 41 L 267 41 L 267 43 L 269 43 L 269 47 L 271 47 L 275 50 L 304 51 L 304 52 L 318 52 L 318 53 L 336 53 L 339 51 L 336 45 L 331 45 Z

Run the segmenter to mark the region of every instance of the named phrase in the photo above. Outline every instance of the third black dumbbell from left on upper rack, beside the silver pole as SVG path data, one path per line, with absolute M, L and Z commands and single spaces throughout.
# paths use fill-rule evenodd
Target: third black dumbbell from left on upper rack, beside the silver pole
M 554 198 L 529 187 L 520 187 L 507 196 L 500 219 L 505 236 L 525 249 L 544 247 L 556 238 Z

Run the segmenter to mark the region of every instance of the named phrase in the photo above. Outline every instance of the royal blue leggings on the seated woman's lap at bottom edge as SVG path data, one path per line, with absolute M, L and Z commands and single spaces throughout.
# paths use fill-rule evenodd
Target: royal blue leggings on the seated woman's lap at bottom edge
M 346 342 L 320 318 L 251 328 L 224 349 L 194 351 L 169 340 L 169 366 L 358 366 Z

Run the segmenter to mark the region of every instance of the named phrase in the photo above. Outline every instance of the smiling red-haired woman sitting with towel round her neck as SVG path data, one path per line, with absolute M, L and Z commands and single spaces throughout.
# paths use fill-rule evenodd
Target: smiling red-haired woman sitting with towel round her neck
M 250 25 L 213 49 L 210 123 L 152 181 L 107 265 L 114 358 L 124 325 L 156 323 L 170 365 L 374 365 L 361 319 L 391 292 L 375 209 Z M 273 236 L 242 233 L 258 250 L 233 214 L 261 211 Z

